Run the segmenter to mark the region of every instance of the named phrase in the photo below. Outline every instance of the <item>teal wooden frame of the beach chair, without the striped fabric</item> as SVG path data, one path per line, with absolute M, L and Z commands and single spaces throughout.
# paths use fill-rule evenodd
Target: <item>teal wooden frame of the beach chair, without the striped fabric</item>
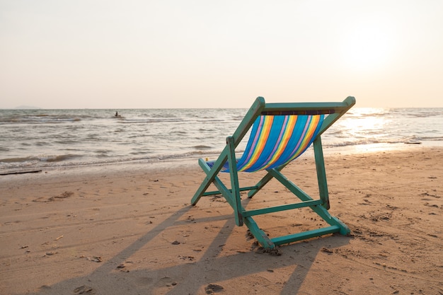
M 321 134 L 326 131 L 335 121 L 337 121 L 342 115 L 347 112 L 352 106 L 355 105 L 355 98 L 352 96 L 347 97 L 340 103 L 265 103 L 265 99 L 258 97 L 251 108 L 246 113 L 245 117 L 238 125 L 234 134 L 226 138 L 226 146 L 222 153 L 219 155 L 214 165 L 209 167 L 202 158 L 198 160 L 198 163 L 202 170 L 205 171 L 206 177 L 203 180 L 200 187 L 198 187 L 195 195 L 191 199 L 191 204 L 195 205 L 203 196 L 209 195 L 223 195 L 229 205 L 234 209 L 234 219 L 237 226 L 243 226 L 246 224 L 257 241 L 263 246 L 263 248 L 275 248 L 276 245 L 282 245 L 285 243 L 292 243 L 294 241 L 301 241 L 306 238 L 313 238 L 316 236 L 323 236 L 328 233 L 341 233 L 347 235 L 350 233 L 350 229 L 343 224 L 335 216 L 331 216 L 328 212 L 330 207 L 328 196 L 328 183 L 326 181 L 326 169 L 323 158 L 323 148 L 321 145 Z M 257 184 L 250 187 L 240 187 L 238 181 L 238 171 L 236 168 L 236 153 L 235 149 L 246 135 L 248 130 L 255 122 L 255 119 L 260 115 L 266 114 L 278 114 L 281 112 L 321 112 L 328 113 L 329 115 L 323 120 L 321 129 L 318 132 L 316 139 L 313 141 L 314 158 L 316 161 L 316 173 L 318 180 L 318 192 L 319 198 L 313 199 L 306 194 L 300 187 L 297 187 L 292 181 L 288 180 L 280 171 L 286 165 L 279 166 L 277 168 L 267 169 L 266 175 L 258 181 Z M 229 174 L 231 178 L 231 188 L 229 189 L 222 183 L 222 180 L 218 177 L 220 170 L 222 170 L 224 163 L 229 163 Z M 280 181 L 284 187 L 287 187 L 294 195 L 296 195 L 301 202 L 294 204 L 284 204 L 275 207 L 267 207 L 262 209 L 246 210 L 241 204 L 240 192 L 248 191 L 248 197 L 252 198 L 261 188 L 263 188 L 272 178 Z M 207 192 L 209 185 L 214 184 L 217 190 Z M 260 214 L 268 214 L 271 212 L 281 212 L 289 209 L 298 209 L 302 207 L 309 207 L 316 212 L 329 226 L 321 229 L 313 229 L 311 231 L 303 231 L 301 233 L 294 233 L 287 236 L 280 236 L 277 238 L 269 238 L 264 231 L 262 231 L 253 219 L 253 216 Z

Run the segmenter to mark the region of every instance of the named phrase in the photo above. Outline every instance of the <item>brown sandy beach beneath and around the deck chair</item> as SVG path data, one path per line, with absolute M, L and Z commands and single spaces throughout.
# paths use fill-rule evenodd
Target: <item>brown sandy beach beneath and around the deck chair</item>
M 0 176 L 0 294 L 443 294 L 443 148 L 326 156 L 330 212 L 350 236 L 258 251 L 219 197 L 190 199 L 193 163 Z M 284 174 L 316 194 L 313 159 Z M 244 174 L 251 185 L 262 174 Z M 227 176 L 227 175 L 226 175 Z M 272 181 L 244 206 L 291 202 Z M 260 216 L 270 235 L 319 221 Z

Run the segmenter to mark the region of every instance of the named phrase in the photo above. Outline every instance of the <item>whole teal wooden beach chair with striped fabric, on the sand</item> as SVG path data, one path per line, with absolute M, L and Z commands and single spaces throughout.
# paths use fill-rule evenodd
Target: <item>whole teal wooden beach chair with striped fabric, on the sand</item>
M 347 235 L 350 233 L 350 229 L 328 212 L 328 185 L 321 134 L 352 108 L 352 105 L 355 105 L 355 98 L 352 96 L 339 103 L 265 103 L 264 98 L 258 97 L 234 134 L 226 138 L 226 146 L 217 160 L 199 159 L 198 163 L 205 171 L 206 178 L 192 197 L 192 205 L 197 204 L 202 196 L 223 195 L 234 209 L 236 225 L 246 224 L 263 248 L 272 249 L 276 245 L 323 236 L 328 233 Z M 236 158 L 236 147 L 249 129 L 251 129 L 251 133 L 243 156 Z M 316 199 L 309 196 L 281 173 L 281 170 L 289 162 L 303 154 L 311 144 L 313 144 L 318 180 L 319 196 Z M 238 173 L 253 173 L 259 170 L 265 170 L 267 173 L 257 184 L 248 187 L 239 185 Z M 221 172 L 230 174 L 230 189 L 219 178 Z M 280 181 L 299 200 L 293 204 L 246 210 L 241 204 L 240 192 L 248 191 L 248 197 L 251 198 L 273 178 Z M 208 187 L 211 184 L 214 184 L 217 190 L 208 192 Z M 302 207 L 311 208 L 329 226 L 270 238 L 253 219 L 253 216 L 260 214 Z

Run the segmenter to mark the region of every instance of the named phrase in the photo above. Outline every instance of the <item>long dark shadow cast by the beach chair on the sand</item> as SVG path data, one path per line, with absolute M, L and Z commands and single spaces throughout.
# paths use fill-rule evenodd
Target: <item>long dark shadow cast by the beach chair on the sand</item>
M 248 202 L 248 200 L 244 202 Z M 251 250 L 248 253 L 219 257 L 218 254 L 222 251 L 220 245 L 226 243 L 236 226 L 234 219 L 229 218 L 231 216 L 214 216 L 195 220 L 198 223 L 210 223 L 227 219 L 199 260 L 155 270 L 145 268 L 130 272 L 116 271 L 117 265 L 130 259 L 132 255 L 163 231 L 172 226 L 185 224 L 186 221 L 180 220 L 180 218 L 192 210 L 198 209 L 192 206 L 182 207 L 130 246 L 114 255 L 113 258 L 103 262 L 90 274 L 66 279 L 52 286 L 42 286 L 32 294 L 212 294 L 214 290 L 207 288 L 222 286 L 223 282 L 231 279 L 247 277 L 260 272 L 277 273 L 280 267 L 285 269 L 289 267 L 293 271 L 285 270 L 286 273 L 291 274 L 287 279 L 282 277 L 281 289 L 275 294 L 297 294 L 309 274 L 316 255 L 323 248 L 338 248 L 350 241 L 350 238 L 346 236 L 326 236 L 311 239 L 307 243 L 284 245 L 282 246 L 282 256 L 258 254 Z M 283 258 L 284 262 L 279 258 Z M 174 277 L 174 274 L 178 274 L 178 277 Z M 251 289 L 254 288 L 254 284 L 251 282 L 250 286 L 243 284 L 241 287 L 243 290 L 245 287 Z M 268 283 L 263 282 L 263 284 Z M 260 288 L 266 287 L 261 286 Z M 240 293 L 242 292 L 240 291 Z

